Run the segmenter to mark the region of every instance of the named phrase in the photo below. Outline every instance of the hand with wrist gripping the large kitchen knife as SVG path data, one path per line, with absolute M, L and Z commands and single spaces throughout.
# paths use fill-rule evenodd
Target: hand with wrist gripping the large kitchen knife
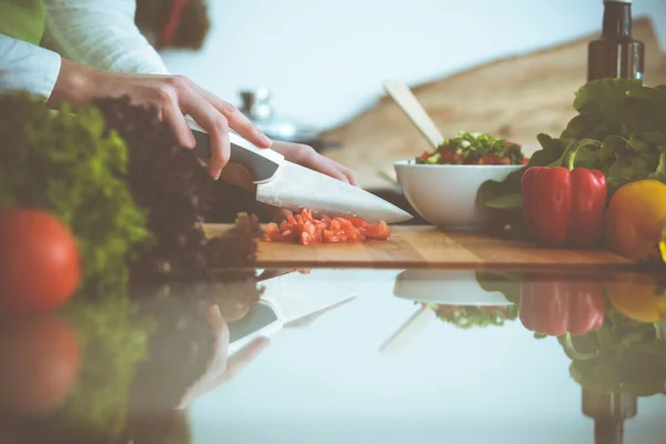
M 184 77 L 117 73 L 63 59 L 48 103 L 84 103 L 95 97 L 120 95 L 129 95 L 135 104 L 154 105 L 179 143 L 190 149 L 194 148 L 195 141 L 185 115 L 191 115 L 211 135 L 209 171 L 214 179 L 220 178 L 231 155 L 230 128 L 259 148 L 272 144 L 234 105 Z

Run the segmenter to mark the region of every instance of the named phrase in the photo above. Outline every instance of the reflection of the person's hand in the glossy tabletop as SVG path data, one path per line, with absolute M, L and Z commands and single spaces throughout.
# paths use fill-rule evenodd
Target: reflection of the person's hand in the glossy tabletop
M 185 393 L 178 406 L 179 410 L 186 408 L 199 396 L 231 381 L 254 361 L 259 353 L 261 353 L 270 343 L 266 337 L 258 337 L 233 356 L 228 357 L 229 325 L 222 317 L 222 313 L 218 305 L 213 305 L 209 309 L 208 321 L 215 332 L 215 355 L 211 360 L 204 375 L 188 390 L 188 393 Z

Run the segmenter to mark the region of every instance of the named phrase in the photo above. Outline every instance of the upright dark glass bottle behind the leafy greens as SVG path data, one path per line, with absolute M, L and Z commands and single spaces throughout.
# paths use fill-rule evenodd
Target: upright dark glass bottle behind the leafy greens
M 602 37 L 587 48 L 587 81 L 639 79 L 645 73 L 645 46 L 632 36 L 632 0 L 604 0 Z

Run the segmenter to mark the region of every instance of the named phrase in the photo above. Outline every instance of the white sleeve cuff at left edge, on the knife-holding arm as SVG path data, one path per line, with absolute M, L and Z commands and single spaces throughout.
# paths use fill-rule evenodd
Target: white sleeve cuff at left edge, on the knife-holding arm
M 60 63 L 53 51 L 0 34 L 0 93 L 28 91 L 48 99 Z

